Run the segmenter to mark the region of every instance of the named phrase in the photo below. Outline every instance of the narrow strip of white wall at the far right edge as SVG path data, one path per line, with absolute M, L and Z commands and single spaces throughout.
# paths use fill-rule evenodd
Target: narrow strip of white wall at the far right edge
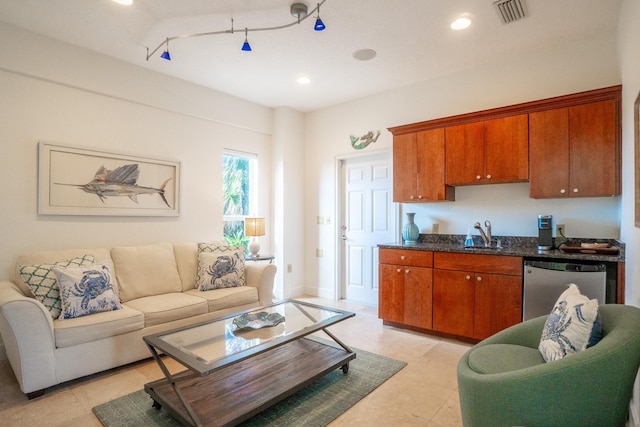
M 634 102 L 640 92 L 640 3 L 624 0 L 618 26 L 618 55 L 622 71 L 622 215 L 621 236 L 627 243 L 626 302 L 640 306 L 640 230 L 635 227 Z M 636 381 L 631 402 L 630 425 L 640 425 L 640 388 Z

